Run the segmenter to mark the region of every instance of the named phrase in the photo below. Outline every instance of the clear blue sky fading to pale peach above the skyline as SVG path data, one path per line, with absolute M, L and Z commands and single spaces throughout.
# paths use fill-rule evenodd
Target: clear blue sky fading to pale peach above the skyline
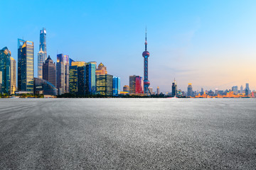
M 17 39 L 35 44 L 47 30 L 47 52 L 102 62 L 121 85 L 143 76 L 147 26 L 149 80 L 160 91 L 256 89 L 256 1 L 6 1 L 0 0 L 0 48 L 17 59 Z M 4 8 L 3 8 L 4 6 Z

